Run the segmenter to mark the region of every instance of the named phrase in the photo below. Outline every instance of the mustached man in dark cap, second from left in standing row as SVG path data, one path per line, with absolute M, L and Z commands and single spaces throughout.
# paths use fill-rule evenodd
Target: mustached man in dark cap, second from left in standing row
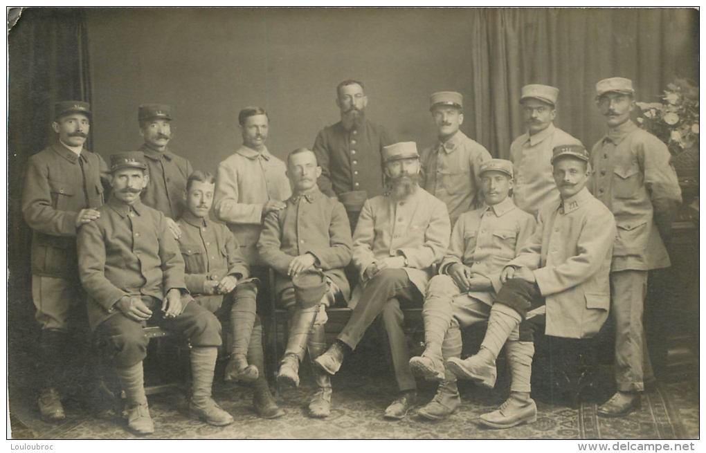
M 145 143 L 140 151 L 147 157 L 148 186 L 142 194 L 145 205 L 167 217 L 175 239 L 181 235 L 177 219 L 184 212 L 186 179 L 193 173 L 191 163 L 167 148 L 172 138 L 172 109 L 164 104 L 143 104 L 138 108 L 140 135 Z

